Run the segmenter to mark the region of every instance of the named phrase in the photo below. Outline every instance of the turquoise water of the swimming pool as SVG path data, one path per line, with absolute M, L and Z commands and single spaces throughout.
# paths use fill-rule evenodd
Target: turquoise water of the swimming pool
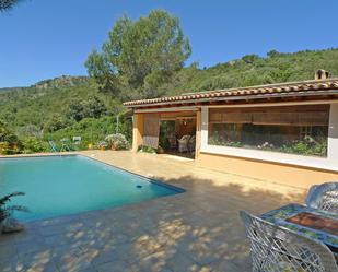
M 0 197 L 13 191 L 26 196 L 13 198 L 11 204 L 31 211 L 15 213 L 15 218 L 32 221 L 137 203 L 183 190 L 72 155 L 0 158 Z

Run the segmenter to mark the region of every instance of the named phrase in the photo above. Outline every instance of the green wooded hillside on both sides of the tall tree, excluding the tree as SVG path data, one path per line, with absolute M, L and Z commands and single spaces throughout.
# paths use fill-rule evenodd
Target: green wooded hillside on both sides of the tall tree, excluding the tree
M 270 51 L 264 58 L 249 55 L 208 69 L 191 64 L 177 72 L 158 93 L 174 95 L 311 80 L 317 69 L 337 76 L 338 49 Z M 115 116 L 123 110 L 121 102 L 100 92 L 97 84 L 86 76 L 63 75 L 28 87 L 0 88 L 0 120 L 22 139 L 81 134 L 86 142 L 100 141 L 116 130 Z M 119 130 L 130 135 L 130 118 L 121 121 Z

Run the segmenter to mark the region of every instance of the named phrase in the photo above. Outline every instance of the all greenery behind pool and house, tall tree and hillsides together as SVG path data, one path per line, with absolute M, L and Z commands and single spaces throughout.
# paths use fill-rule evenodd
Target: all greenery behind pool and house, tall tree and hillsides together
M 50 150 L 48 140 L 78 149 L 102 146 L 106 135 L 131 137 L 130 98 L 176 95 L 237 86 L 311 80 L 317 69 L 338 75 L 338 49 L 241 59 L 184 68 L 190 46 L 176 17 L 164 11 L 114 26 L 102 52 L 89 56 L 89 76 L 60 76 L 28 87 L 0 88 L 0 154 Z

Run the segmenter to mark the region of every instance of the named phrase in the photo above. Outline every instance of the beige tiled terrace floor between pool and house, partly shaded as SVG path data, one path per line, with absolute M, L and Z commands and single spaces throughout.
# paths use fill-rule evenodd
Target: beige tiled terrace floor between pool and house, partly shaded
M 249 271 L 240 210 L 303 202 L 301 189 L 198 168 L 193 161 L 130 152 L 88 156 L 151 175 L 185 193 L 34 222 L 0 236 L 0 271 Z

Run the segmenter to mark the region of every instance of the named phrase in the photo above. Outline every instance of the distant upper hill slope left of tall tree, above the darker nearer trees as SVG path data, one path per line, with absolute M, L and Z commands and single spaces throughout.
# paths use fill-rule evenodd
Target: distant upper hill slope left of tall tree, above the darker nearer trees
M 55 119 L 67 122 L 70 107 L 93 97 L 98 98 L 107 111 L 114 108 L 114 99 L 100 93 L 89 78 L 46 80 L 30 87 L 0 93 L 0 119 L 14 130 L 28 125 L 40 130 Z

